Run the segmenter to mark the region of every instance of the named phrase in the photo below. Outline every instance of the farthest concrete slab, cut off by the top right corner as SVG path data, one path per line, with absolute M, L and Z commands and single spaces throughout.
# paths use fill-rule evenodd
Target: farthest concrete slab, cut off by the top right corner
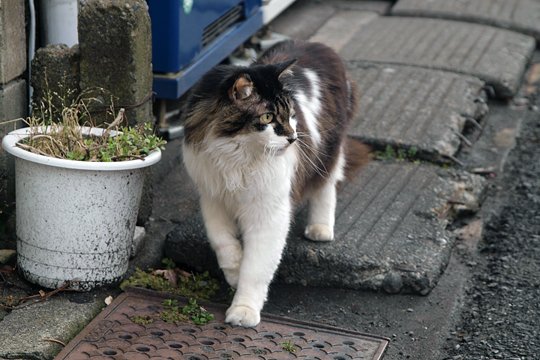
M 443 18 L 493 25 L 540 41 L 540 2 L 533 0 L 399 0 L 392 15 Z

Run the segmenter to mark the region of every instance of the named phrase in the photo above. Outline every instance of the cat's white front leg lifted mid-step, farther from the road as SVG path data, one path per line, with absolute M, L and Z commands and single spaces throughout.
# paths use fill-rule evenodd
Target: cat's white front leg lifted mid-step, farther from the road
M 229 285 L 236 289 L 243 253 L 242 245 L 237 237 L 236 223 L 221 200 L 203 195 L 201 196 L 201 210 L 206 234 L 216 253 L 219 267 Z

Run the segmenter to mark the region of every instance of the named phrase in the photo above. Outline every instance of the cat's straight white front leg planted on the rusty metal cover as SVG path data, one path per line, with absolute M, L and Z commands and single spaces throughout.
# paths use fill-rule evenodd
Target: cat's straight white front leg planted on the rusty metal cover
M 268 287 L 276 272 L 290 223 L 290 204 L 281 211 L 266 214 L 250 213 L 243 219 L 244 257 L 240 267 L 238 288 L 225 321 L 252 327 L 260 322 Z M 259 216 L 260 215 L 260 216 Z

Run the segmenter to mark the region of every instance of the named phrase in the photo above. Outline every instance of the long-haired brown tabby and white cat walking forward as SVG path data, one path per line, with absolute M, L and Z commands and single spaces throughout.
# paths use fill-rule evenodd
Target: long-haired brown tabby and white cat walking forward
M 357 95 L 339 56 L 285 41 L 251 66 L 220 65 L 188 95 L 183 157 L 211 247 L 236 293 L 232 325 L 256 326 L 295 206 L 308 201 L 305 237 L 334 239 L 336 186 L 368 148 L 347 139 Z

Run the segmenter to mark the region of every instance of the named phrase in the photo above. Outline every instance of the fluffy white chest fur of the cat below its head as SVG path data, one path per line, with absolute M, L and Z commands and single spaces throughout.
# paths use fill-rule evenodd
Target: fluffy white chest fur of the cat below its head
M 250 145 L 241 136 L 211 140 L 200 150 L 184 145 L 186 169 L 201 195 L 223 201 L 235 216 L 240 208 L 290 202 L 298 162 L 295 146 L 274 156 Z

